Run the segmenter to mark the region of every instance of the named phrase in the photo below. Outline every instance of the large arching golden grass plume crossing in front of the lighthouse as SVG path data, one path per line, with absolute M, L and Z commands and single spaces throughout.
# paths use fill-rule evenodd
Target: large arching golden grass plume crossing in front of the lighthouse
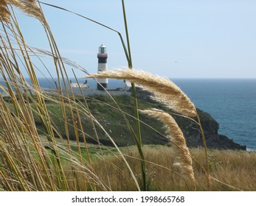
M 135 69 L 117 69 L 116 71 L 102 71 L 85 78 L 114 78 L 128 79 L 145 90 L 154 93 L 153 99 L 167 105 L 184 116 L 196 116 L 196 107 L 185 93 L 169 79 L 156 77 L 153 74 Z

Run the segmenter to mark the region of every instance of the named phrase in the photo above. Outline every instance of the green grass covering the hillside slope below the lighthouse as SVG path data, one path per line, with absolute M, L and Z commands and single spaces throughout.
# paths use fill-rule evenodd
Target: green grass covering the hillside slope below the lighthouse
M 88 107 L 91 112 L 91 114 L 97 118 L 100 122 L 100 124 L 103 125 L 103 127 L 108 131 L 116 141 L 116 143 L 119 146 L 128 146 L 128 145 L 134 145 L 135 142 L 132 138 L 132 134 L 130 130 L 127 127 L 127 124 L 125 122 L 125 119 L 122 116 L 122 113 L 120 113 L 120 110 L 111 102 L 111 99 L 108 96 L 93 96 L 91 97 L 94 100 L 88 102 Z M 114 99 L 117 101 L 117 104 L 120 105 L 120 108 L 123 113 L 126 114 L 126 117 L 128 118 L 128 121 L 130 122 L 132 127 L 136 127 L 136 119 L 133 117 L 133 97 L 132 96 L 115 96 Z M 85 105 L 83 103 L 80 103 L 81 107 L 84 107 Z M 142 108 L 163 108 L 163 106 L 156 102 L 148 102 L 145 100 L 139 100 L 139 105 Z M 46 104 L 47 110 L 49 110 L 49 114 L 52 118 L 52 121 L 56 125 L 56 127 L 59 129 L 59 132 L 63 135 L 65 135 L 65 128 L 61 127 L 63 125 L 63 117 L 61 112 L 60 104 L 57 103 L 47 103 Z M 72 126 L 72 116 L 70 111 L 66 111 L 67 121 L 70 124 L 69 125 L 69 134 L 72 140 L 75 139 L 75 130 Z M 77 118 L 77 116 L 75 116 Z M 86 114 L 80 113 L 80 119 L 83 124 L 83 129 L 86 132 L 86 135 L 88 137 L 91 137 L 92 139 L 96 139 L 94 135 L 93 125 L 91 124 L 91 119 L 86 116 Z M 187 127 L 187 125 L 190 124 L 190 121 L 187 121 L 184 118 L 179 118 L 179 122 L 181 124 L 181 127 Z M 162 131 L 162 134 L 165 134 L 165 130 L 163 129 L 163 124 L 159 123 L 158 121 L 152 121 L 151 118 L 148 118 L 145 115 L 140 116 L 140 120 L 142 122 L 145 122 L 151 127 L 155 128 L 156 130 Z M 39 123 L 39 118 L 35 118 L 35 121 L 38 122 L 38 128 L 40 130 L 43 130 Z M 141 131 L 142 131 L 142 143 L 148 144 L 148 143 L 156 143 L 156 144 L 166 144 L 168 141 L 163 138 L 161 135 L 159 135 L 157 132 L 152 132 L 151 129 L 148 129 L 147 126 L 144 124 L 141 125 Z M 103 144 L 112 145 L 109 141 L 108 137 L 105 136 L 105 132 L 100 130 L 100 128 L 97 127 L 97 132 L 100 137 L 100 141 Z M 80 135 L 80 141 L 83 141 L 81 139 Z M 94 141 L 95 142 L 95 141 Z

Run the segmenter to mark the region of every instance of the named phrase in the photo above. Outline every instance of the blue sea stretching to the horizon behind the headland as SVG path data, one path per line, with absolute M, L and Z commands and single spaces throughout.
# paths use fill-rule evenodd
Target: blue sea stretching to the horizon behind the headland
M 42 88 L 54 88 L 53 81 L 38 79 Z M 219 124 L 218 133 L 256 151 L 256 79 L 171 79 L 191 101 Z M 72 79 L 72 82 L 75 79 Z M 84 79 L 79 79 L 84 82 Z M 122 87 L 121 80 L 108 80 L 109 88 Z M 96 88 L 94 80 L 88 80 Z M 2 81 L 0 79 L 0 84 Z

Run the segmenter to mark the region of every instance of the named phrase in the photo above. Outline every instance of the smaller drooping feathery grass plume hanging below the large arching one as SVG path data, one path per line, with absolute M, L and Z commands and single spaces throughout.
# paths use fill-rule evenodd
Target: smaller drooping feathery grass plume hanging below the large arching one
M 184 135 L 179 128 L 176 121 L 168 113 L 162 110 L 141 110 L 142 113 L 157 118 L 159 121 L 165 124 L 167 129 L 167 138 L 173 142 L 176 146 L 173 147 L 176 157 L 176 166 L 180 166 L 184 177 L 191 182 L 195 182 L 194 171 L 192 167 L 192 158 L 190 151 L 187 148 Z

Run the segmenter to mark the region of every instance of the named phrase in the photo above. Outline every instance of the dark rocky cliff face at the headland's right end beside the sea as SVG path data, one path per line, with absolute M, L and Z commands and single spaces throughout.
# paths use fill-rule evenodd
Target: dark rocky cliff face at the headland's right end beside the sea
M 232 141 L 225 135 L 219 135 L 219 124 L 208 113 L 204 113 L 199 110 L 199 116 L 201 117 L 201 124 L 204 129 L 204 135 L 207 142 L 207 148 L 212 149 L 243 149 L 246 150 L 246 146 L 241 146 L 238 143 Z M 190 147 L 203 146 L 201 138 L 201 132 L 196 123 L 191 122 L 190 125 L 183 129 L 184 136 L 187 140 L 187 145 Z

